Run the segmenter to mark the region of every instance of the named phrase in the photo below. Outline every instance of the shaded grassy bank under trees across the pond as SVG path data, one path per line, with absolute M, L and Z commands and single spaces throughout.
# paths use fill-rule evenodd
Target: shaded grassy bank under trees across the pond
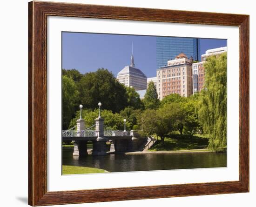
M 208 140 L 207 135 L 201 134 L 195 134 L 194 136 L 170 134 L 165 137 L 164 143 L 159 138 L 149 151 L 205 149 L 208 146 Z

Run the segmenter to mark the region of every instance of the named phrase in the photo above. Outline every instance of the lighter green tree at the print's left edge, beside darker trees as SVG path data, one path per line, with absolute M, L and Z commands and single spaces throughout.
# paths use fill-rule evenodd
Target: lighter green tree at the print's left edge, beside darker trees
M 70 120 L 74 117 L 75 103 L 79 92 L 74 80 L 66 75 L 62 76 L 62 129 L 67 129 Z

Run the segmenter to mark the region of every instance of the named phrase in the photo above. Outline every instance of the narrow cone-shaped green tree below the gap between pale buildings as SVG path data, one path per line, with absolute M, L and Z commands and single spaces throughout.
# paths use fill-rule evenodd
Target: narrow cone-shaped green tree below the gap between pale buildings
M 150 81 L 148 84 L 148 89 L 144 96 L 143 103 L 146 109 L 156 109 L 159 107 L 158 94 L 153 81 Z

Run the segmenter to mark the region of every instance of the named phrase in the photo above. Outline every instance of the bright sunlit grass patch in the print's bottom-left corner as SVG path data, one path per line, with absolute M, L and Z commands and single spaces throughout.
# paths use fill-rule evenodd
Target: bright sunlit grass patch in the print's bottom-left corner
M 62 174 L 87 174 L 87 173 L 108 173 L 107 170 L 94 167 L 62 166 Z

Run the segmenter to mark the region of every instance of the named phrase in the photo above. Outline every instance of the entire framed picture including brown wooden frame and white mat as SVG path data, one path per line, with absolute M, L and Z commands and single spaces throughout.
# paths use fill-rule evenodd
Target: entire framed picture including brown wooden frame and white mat
M 28 13 L 29 205 L 249 192 L 249 15 Z

